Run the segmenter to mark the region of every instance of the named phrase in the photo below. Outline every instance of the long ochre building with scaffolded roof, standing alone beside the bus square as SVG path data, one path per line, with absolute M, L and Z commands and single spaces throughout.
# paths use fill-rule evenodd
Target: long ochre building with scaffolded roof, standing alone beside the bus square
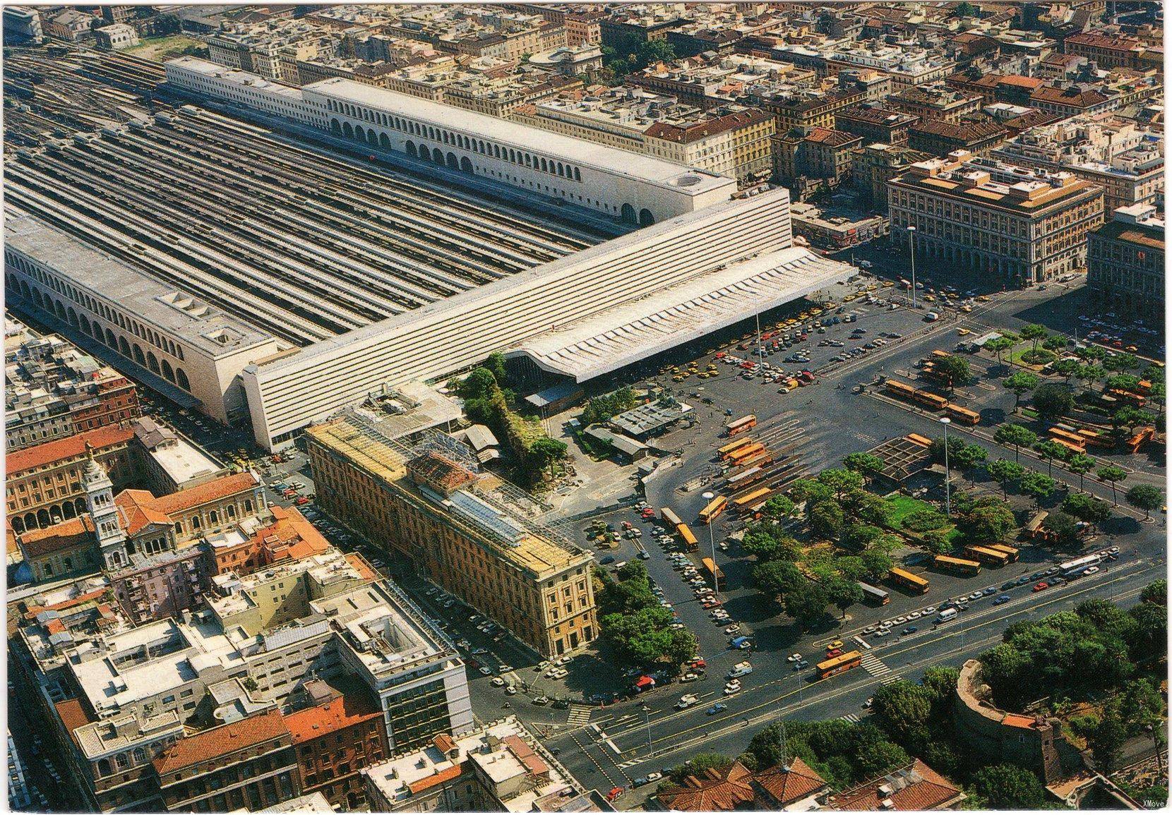
M 509 485 L 349 412 L 306 431 L 319 501 L 544 656 L 598 636 L 591 556 L 498 506 Z

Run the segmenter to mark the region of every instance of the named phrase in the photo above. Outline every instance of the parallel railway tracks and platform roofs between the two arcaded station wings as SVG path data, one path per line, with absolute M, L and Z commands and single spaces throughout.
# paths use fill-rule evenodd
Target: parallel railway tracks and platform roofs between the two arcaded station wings
M 149 97 L 161 78 L 122 55 L 14 49 L 6 85 L 33 90 L 6 95 L 18 150 L 9 206 L 293 345 L 604 239 L 219 114 L 159 105 Z

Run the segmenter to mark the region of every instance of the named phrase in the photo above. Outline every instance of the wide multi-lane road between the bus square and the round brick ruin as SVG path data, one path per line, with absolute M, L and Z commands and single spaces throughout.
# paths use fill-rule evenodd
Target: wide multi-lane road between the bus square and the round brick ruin
M 933 665 L 960 665 L 996 645 L 1004 629 L 1022 619 L 1040 619 L 1096 597 L 1130 607 L 1138 602 L 1143 588 L 1165 571 L 1163 556 L 1125 559 L 1109 571 L 1044 593 L 1021 594 L 1004 605 L 992 605 L 992 597 L 975 601 L 968 611 L 936 630 L 925 625 L 925 630 L 898 641 L 870 641 L 875 643 L 864 651 L 870 667 L 822 682 L 815 679 L 812 669 L 793 672 L 782 655 L 755 653 L 748 657 L 755 671 L 743 678 L 745 690 L 725 698 L 722 696 L 724 662 L 742 658 L 730 652 L 729 659 L 720 665 L 710 663 L 707 680 L 690 686 L 673 685 L 670 692 L 653 692 L 615 704 L 597 714 L 590 726 L 546 744 L 558 749 L 561 762 L 586 785 L 600 789 L 631 787 L 634 779 L 679 765 L 701 752 L 736 755 L 756 732 L 783 717 L 861 718 L 866 714 L 863 703 L 881 684 L 895 678 L 917 680 Z M 841 636 L 847 639 L 853 633 L 857 631 L 846 630 Z M 884 669 L 890 672 L 872 673 Z M 763 673 L 769 674 L 765 682 L 750 684 Z M 676 711 L 674 704 L 684 691 L 700 696 L 701 704 Z M 720 700 L 729 704 L 728 710 L 707 713 Z M 648 711 L 642 710 L 645 705 Z M 650 792 L 653 787 L 646 789 Z M 627 797 L 620 797 L 620 808 L 629 808 L 642 796 L 634 793 L 632 800 Z

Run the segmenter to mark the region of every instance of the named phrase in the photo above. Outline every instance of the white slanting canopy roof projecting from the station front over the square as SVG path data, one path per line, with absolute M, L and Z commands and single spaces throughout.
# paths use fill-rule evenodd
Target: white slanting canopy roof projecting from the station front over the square
M 510 349 L 543 370 L 586 382 L 804 297 L 856 274 L 790 247 L 749 258 L 646 297 L 621 302 Z

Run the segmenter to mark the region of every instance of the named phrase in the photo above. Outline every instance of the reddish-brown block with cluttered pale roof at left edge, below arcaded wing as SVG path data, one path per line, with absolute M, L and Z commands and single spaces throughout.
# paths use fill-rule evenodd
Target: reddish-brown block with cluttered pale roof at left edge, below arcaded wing
M 55 334 L 5 349 L 5 443 L 9 453 L 142 416 L 138 390 Z

